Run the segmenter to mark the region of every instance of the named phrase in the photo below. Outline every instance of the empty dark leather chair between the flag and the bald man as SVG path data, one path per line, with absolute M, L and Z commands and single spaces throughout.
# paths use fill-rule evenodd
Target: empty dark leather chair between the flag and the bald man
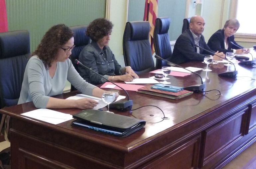
M 170 18 L 157 18 L 154 30 L 154 48 L 156 55 L 161 58 L 171 61 L 172 49 L 169 39 Z M 156 69 L 161 69 L 162 66 L 169 66 L 166 61 L 156 60 Z

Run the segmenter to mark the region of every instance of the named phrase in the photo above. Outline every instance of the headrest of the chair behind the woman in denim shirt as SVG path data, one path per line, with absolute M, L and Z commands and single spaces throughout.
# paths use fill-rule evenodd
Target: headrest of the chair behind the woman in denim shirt
M 87 26 L 70 26 L 69 27 L 74 32 L 74 45 L 75 46 L 84 46 L 90 43 L 90 38 L 85 35 Z

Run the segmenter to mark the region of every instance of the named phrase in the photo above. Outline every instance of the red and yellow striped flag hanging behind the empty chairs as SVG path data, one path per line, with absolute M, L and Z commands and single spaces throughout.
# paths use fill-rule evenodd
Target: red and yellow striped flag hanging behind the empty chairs
M 153 34 L 157 19 L 158 12 L 158 0 L 145 0 L 145 10 L 143 21 L 149 21 L 150 30 L 149 30 L 149 42 L 151 46 L 152 54 L 155 53 Z

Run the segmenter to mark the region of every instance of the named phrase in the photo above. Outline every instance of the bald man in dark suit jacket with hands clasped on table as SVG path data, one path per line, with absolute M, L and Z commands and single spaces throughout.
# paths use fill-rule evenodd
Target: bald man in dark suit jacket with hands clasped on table
M 204 37 L 202 35 L 204 25 L 204 19 L 200 16 L 193 16 L 190 19 L 190 29 L 185 30 L 176 40 L 171 62 L 180 64 L 190 61 L 203 61 L 205 55 L 211 55 L 203 49 L 195 47 L 194 44 L 197 44 L 200 47 L 207 49 L 212 53 L 215 53 L 208 47 L 208 45 L 204 41 Z M 222 52 L 219 53 L 217 51 L 215 54 L 223 58 L 225 57 Z M 213 60 L 222 59 L 214 55 Z

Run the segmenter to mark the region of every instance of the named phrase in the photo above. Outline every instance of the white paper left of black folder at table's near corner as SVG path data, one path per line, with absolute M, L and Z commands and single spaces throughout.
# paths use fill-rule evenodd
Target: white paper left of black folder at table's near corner
M 32 117 L 41 121 L 45 121 L 51 124 L 59 124 L 65 121 L 73 119 L 72 115 L 62 113 L 47 108 L 39 108 L 33 111 L 22 113 L 21 115 Z

